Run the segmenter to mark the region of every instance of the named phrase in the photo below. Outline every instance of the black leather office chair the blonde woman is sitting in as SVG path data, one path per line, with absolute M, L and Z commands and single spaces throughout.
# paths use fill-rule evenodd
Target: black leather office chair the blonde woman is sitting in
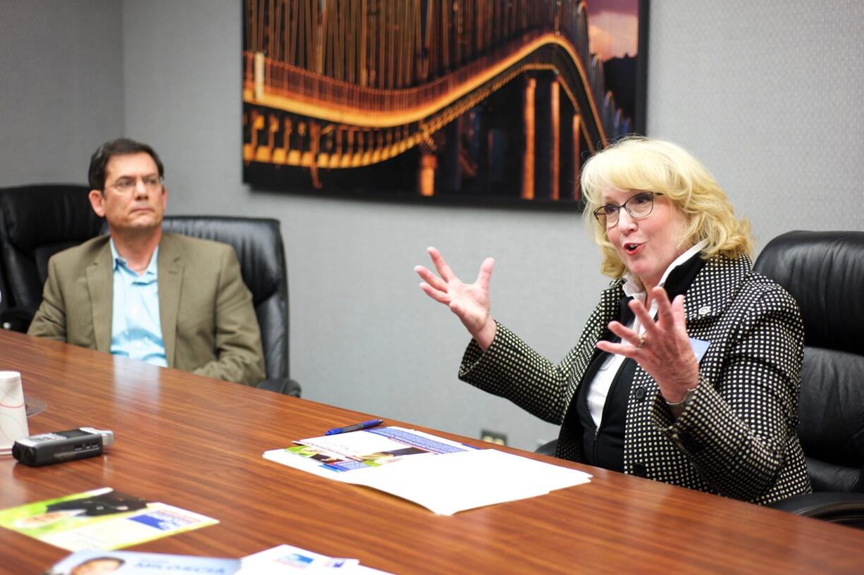
M 755 269 L 804 317 L 798 434 L 814 493 L 772 507 L 864 528 L 864 231 L 790 231 Z

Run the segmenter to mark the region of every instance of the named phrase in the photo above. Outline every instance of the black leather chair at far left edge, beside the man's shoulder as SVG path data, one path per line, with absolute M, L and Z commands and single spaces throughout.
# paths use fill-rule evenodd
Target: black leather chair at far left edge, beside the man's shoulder
M 87 186 L 37 184 L 0 189 L 0 323 L 26 332 L 42 300 L 48 258 L 98 236 L 102 227 Z

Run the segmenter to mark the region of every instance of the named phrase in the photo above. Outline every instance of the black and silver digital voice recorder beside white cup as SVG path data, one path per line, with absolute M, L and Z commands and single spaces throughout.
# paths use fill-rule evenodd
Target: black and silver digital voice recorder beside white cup
M 12 457 L 33 467 L 92 458 L 101 455 L 114 443 L 114 432 L 79 427 L 65 432 L 40 433 L 18 439 L 12 445 Z

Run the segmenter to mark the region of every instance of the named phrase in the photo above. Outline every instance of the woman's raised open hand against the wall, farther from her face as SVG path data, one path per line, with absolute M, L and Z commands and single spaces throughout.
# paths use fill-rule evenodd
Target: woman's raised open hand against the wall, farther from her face
M 430 298 L 450 308 L 450 311 L 465 325 L 471 337 L 477 340 L 484 351 L 495 338 L 496 325 L 490 314 L 489 280 L 492 278 L 492 267 L 495 260 L 487 257 L 480 264 L 480 272 L 473 283 L 462 283 L 453 270 L 444 261 L 441 252 L 428 248 L 429 256 L 438 275 L 433 274 L 423 266 L 416 266 L 414 271 L 420 275 L 422 289 Z

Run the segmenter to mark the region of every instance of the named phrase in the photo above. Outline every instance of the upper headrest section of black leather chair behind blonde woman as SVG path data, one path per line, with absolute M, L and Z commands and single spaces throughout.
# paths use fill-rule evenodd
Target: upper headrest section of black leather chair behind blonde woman
M 755 269 L 797 300 L 804 344 L 864 355 L 864 231 L 787 232 Z

